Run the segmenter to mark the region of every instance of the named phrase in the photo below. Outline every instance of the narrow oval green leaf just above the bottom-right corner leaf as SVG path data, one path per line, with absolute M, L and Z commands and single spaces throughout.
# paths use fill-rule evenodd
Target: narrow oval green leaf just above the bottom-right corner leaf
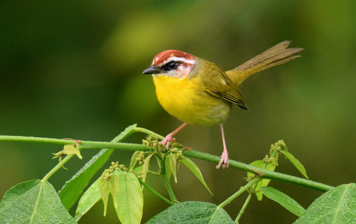
M 281 191 L 278 191 L 277 189 L 274 189 L 273 187 L 261 187 L 261 191 L 268 198 L 278 202 L 281 204 L 281 206 L 295 215 L 300 216 L 303 214 L 303 212 L 305 212 L 305 209 L 300 204 L 298 204 L 298 202 L 294 201 L 293 198 L 289 197 L 287 194 Z

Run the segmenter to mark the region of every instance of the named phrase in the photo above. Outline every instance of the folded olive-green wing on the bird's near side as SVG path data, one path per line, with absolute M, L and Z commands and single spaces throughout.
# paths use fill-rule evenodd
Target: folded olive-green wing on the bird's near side
M 205 69 L 206 73 L 201 75 L 204 90 L 210 95 L 236 103 L 240 108 L 248 110 L 244 96 L 237 88 L 236 84 L 234 84 L 234 82 L 227 77 L 225 71 L 216 66 L 214 63 L 206 60 L 205 62 L 205 64 L 208 64 L 209 66 L 208 69 Z

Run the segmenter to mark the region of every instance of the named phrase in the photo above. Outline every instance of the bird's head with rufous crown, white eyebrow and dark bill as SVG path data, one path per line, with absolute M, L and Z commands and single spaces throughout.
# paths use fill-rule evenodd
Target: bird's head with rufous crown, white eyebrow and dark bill
M 145 69 L 143 74 L 184 78 L 194 68 L 196 59 L 194 55 L 180 50 L 165 50 L 153 58 L 152 66 Z

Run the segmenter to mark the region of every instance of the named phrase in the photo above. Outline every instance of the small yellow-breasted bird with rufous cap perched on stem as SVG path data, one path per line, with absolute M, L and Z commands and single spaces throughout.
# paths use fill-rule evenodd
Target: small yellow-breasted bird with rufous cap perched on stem
M 220 124 L 224 150 L 216 169 L 221 165 L 223 169 L 228 168 L 229 154 L 223 123 L 229 116 L 232 103 L 248 110 L 238 86 L 258 71 L 300 57 L 293 54 L 303 48 L 287 48 L 289 44 L 290 41 L 283 41 L 226 72 L 212 62 L 179 50 L 165 50 L 157 54 L 143 74 L 153 76 L 156 95 L 164 110 L 184 122 L 160 143 L 168 149 L 169 144 L 176 140 L 173 135 L 187 124 Z

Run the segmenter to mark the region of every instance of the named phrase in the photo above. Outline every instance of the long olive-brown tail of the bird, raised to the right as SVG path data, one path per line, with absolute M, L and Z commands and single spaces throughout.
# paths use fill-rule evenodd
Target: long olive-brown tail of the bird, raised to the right
M 283 41 L 274 47 L 269 48 L 262 54 L 248 60 L 244 64 L 235 69 L 226 71 L 227 76 L 236 84 L 239 85 L 248 76 L 265 70 L 275 65 L 286 63 L 300 55 L 293 55 L 303 50 L 303 48 L 288 48 L 290 41 Z

